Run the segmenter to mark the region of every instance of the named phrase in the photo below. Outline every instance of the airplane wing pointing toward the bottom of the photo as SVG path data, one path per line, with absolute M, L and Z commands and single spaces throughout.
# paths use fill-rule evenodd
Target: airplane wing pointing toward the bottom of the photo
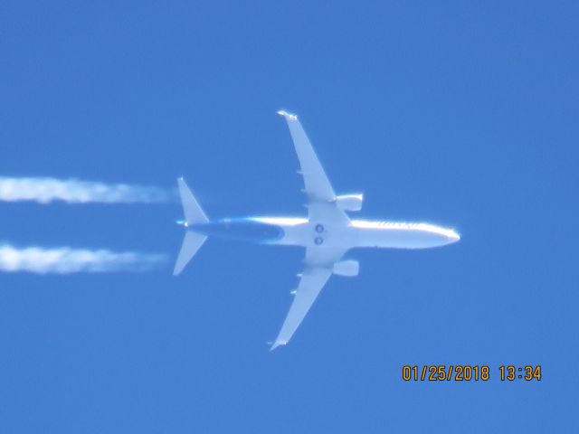
M 326 285 L 327 279 L 332 275 L 334 263 L 346 253 L 344 249 L 327 247 L 308 247 L 304 269 L 299 280 L 299 286 L 294 292 L 294 299 L 289 307 L 280 334 L 271 345 L 270 351 L 280 345 L 288 344 L 289 339 L 298 329 L 301 321 L 308 314 L 309 308 L 314 304 L 318 294 Z

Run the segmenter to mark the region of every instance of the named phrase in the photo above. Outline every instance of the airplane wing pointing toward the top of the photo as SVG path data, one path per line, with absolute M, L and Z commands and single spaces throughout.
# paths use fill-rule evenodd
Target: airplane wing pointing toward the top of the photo
M 288 122 L 289 133 L 298 154 L 301 175 L 305 184 L 304 192 L 308 195 L 309 220 L 349 222 L 346 213 L 337 209 L 336 193 L 298 117 L 283 110 L 278 111 L 278 114 Z

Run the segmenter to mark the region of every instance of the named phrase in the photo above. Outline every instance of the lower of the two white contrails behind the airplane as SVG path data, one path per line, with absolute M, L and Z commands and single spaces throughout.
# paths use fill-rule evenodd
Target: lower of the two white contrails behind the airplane
M 0 244 L 0 271 L 36 274 L 142 272 L 157 268 L 165 255 L 135 251 L 76 250 L 69 247 L 16 249 Z

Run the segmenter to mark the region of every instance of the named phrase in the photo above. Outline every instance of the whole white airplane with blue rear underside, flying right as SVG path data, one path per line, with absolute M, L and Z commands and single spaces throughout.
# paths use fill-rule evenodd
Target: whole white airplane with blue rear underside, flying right
M 298 288 L 291 291 L 294 297 L 288 316 L 270 350 L 288 344 L 330 276 L 357 276 L 359 263 L 356 259 L 342 259 L 346 251 L 355 248 L 429 249 L 460 240 L 453 229 L 429 223 L 350 219 L 347 212 L 360 211 L 364 195 L 334 193 L 298 117 L 283 110 L 278 114 L 287 121 L 298 154 L 299 174 L 303 176 L 303 192 L 308 199 L 308 217 L 241 217 L 210 221 L 185 180 L 179 178 L 177 184 L 185 212 L 185 220 L 181 222 L 185 226 L 185 240 L 173 272 L 175 276 L 180 274 L 210 236 L 305 248 Z

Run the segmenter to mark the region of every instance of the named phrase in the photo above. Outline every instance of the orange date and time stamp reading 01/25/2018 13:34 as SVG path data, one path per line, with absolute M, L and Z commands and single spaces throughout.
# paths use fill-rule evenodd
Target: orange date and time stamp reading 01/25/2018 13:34
M 513 364 L 498 367 L 501 382 L 523 380 L 527 382 L 541 381 L 541 365 L 527 364 L 515 366 Z M 470 364 L 424 364 L 422 366 L 405 364 L 402 368 L 404 382 L 488 382 L 491 377 L 489 365 Z

